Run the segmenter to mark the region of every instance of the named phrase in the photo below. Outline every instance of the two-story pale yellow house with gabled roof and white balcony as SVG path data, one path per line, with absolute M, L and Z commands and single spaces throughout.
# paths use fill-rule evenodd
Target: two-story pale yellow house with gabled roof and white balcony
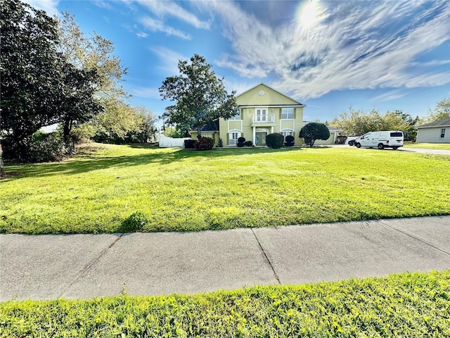
M 264 83 L 236 96 L 238 114 L 225 120 L 220 118 L 217 125 L 203 127 L 202 136 L 214 138 L 217 145 L 219 138 L 224 146 L 236 146 L 239 137 L 245 137 L 256 146 L 266 144 L 266 136 L 279 132 L 284 136 L 295 137 L 295 145 L 301 145 L 303 108 L 306 106 L 278 92 Z M 197 138 L 197 132 L 191 137 Z

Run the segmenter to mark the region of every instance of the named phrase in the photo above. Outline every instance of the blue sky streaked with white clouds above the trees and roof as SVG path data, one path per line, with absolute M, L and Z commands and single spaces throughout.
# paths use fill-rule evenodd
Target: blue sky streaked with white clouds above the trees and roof
M 193 54 L 229 92 L 264 82 L 307 104 L 304 120 L 349 106 L 421 116 L 450 96 L 450 1 L 26 2 L 113 41 L 130 104 L 156 115 L 162 81 Z

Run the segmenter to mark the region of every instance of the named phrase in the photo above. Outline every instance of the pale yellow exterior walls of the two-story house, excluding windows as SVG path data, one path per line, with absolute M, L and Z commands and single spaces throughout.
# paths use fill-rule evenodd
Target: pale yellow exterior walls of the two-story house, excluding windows
M 264 91 L 264 95 L 260 95 L 260 91 Z M 299 134 L 303 125 L 303 107 L 297 101 L 264 84 L 259 84 L 250 91 L 241 94 L 236 98 L 236 101 L 240 106 L 242 120 L 219 119 L 220 138 L 223 140 L 224 146 L 229 146 L 229 132 L 231 131 L 240 132 L 241 137 L 245 137 L 246 141 L 252 141 L 255 144 L 256 132 L 262 132 L 263 130 L 266 130 L 267 134 L 293 130 L 295 145 L 300 146 L 302 144 Z M 253 123 L 252 118 L 257 107 L 267 108 L 269 117 L 274 115 L 273 122 Z M 294 108 L 294 118 L 282 120 L 282 108 Z

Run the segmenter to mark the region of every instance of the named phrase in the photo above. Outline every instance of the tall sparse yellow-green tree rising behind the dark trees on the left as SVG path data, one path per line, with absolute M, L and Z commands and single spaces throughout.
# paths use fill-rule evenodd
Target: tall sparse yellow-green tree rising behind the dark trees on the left
M 96 72 L 95 96 L 103 106 L 98 118 L 96 116 L 99 111 L 85 109 L 79 111 L 70 125 L 79 125 L 86 121 L 92 124 L 100 123 L 96 126 L 97 130 L 103 130 L 109 137 L 121 139 L 127 132 L 140 131 L 136 128 L 136 117 L 129 111 L 131 108 L 127 104 L 130 95 L 120 84 L 122 77 L 127 75 L 127 68 L 122 67 L 120 58 L 113 54 L 113 42 L 103 39 L 96 32 L 89 37 L 84 35 L 75 23 L 75 17 L 68 11 L 58 19 L 58 36 L 58 50 L 68 63 L 85 75 Z

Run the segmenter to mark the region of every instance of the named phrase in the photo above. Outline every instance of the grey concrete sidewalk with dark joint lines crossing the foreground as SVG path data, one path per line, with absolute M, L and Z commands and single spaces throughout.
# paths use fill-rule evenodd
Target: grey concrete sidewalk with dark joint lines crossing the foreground
M 0 301 L 210 292 L 450 268 L 450 216 L 186 233 L 0 235 Z

